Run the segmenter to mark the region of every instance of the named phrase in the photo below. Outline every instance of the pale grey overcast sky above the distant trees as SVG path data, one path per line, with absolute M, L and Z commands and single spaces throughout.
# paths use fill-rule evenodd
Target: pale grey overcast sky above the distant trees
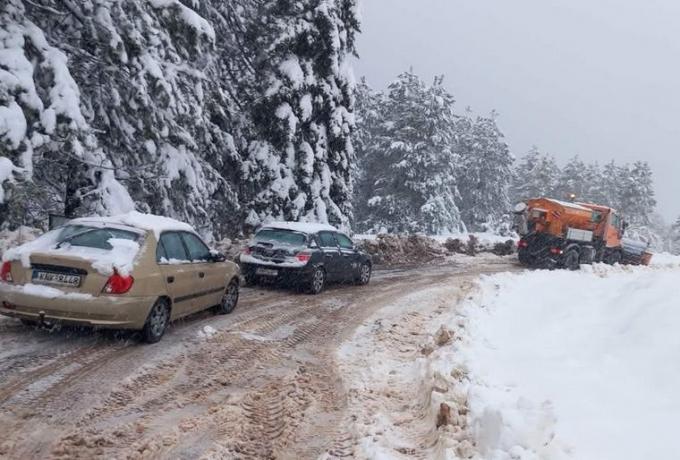
M 680 0 L 363 0 L 357 76 L 446 75 L 515 154 L 647 160 L 680 216 Z

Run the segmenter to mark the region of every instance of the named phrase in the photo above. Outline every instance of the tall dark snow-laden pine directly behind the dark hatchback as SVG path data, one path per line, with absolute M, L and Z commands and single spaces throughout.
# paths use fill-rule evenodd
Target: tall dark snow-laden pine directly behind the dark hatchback
M 260 2 L 250 25 L 261 83 L 243 173 L 248 222 L 293 219 L 349 227 L 352 218 L 355 0 Z

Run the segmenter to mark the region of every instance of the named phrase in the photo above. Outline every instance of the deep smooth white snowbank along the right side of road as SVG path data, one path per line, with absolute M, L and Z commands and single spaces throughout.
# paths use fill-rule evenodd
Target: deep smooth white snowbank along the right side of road
M 479 455 L 675 458 L 679 275 L 596 265 L 483 278 L 459 312 L 463 340 L 436 364 L 468 393 Z

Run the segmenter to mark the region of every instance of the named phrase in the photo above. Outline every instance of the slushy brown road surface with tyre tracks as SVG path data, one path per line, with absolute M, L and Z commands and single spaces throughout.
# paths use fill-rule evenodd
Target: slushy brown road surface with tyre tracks
M 317 297 L 244 289 L 234 314 L 195 315 L 152 346 L 125 334 L 48 332 L 0 319 L 0 457 L 370 455 L 356 420 L 379 401 L 357 393 L 353 379 L 363 364 L 347 362 L 360 352 L 351 344 L 373 327 L 366 321 L 382 309 L 412 312 L 403 324 L 376 326 L 376 337 L 399 352 L 385 359 L 413 361 L 430 340 L 425 316 L 444 312 L 479 274 L 516 269 L 512 259 L 461 257 L 379 272 L 369 286 Z M 408 333 L 400 346 L 394 333 L 401 327 Z M 372 365 L 372 353 L 356 362 Z M 398 374 L 384 377 L 398 392 Z M 384 407 L 405 410 L 396 400 Z M 415 437 L 407 444 L 428 456 L 434 422 L 412 421 L 401 424 Z

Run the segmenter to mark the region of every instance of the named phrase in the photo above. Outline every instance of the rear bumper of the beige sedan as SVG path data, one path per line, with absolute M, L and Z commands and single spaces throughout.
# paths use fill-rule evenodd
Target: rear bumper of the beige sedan
M 109 329 L 142 329 L 154 297 L 41 297 L 22 286 L 0 283 L 0 314 L 34 321 Z

